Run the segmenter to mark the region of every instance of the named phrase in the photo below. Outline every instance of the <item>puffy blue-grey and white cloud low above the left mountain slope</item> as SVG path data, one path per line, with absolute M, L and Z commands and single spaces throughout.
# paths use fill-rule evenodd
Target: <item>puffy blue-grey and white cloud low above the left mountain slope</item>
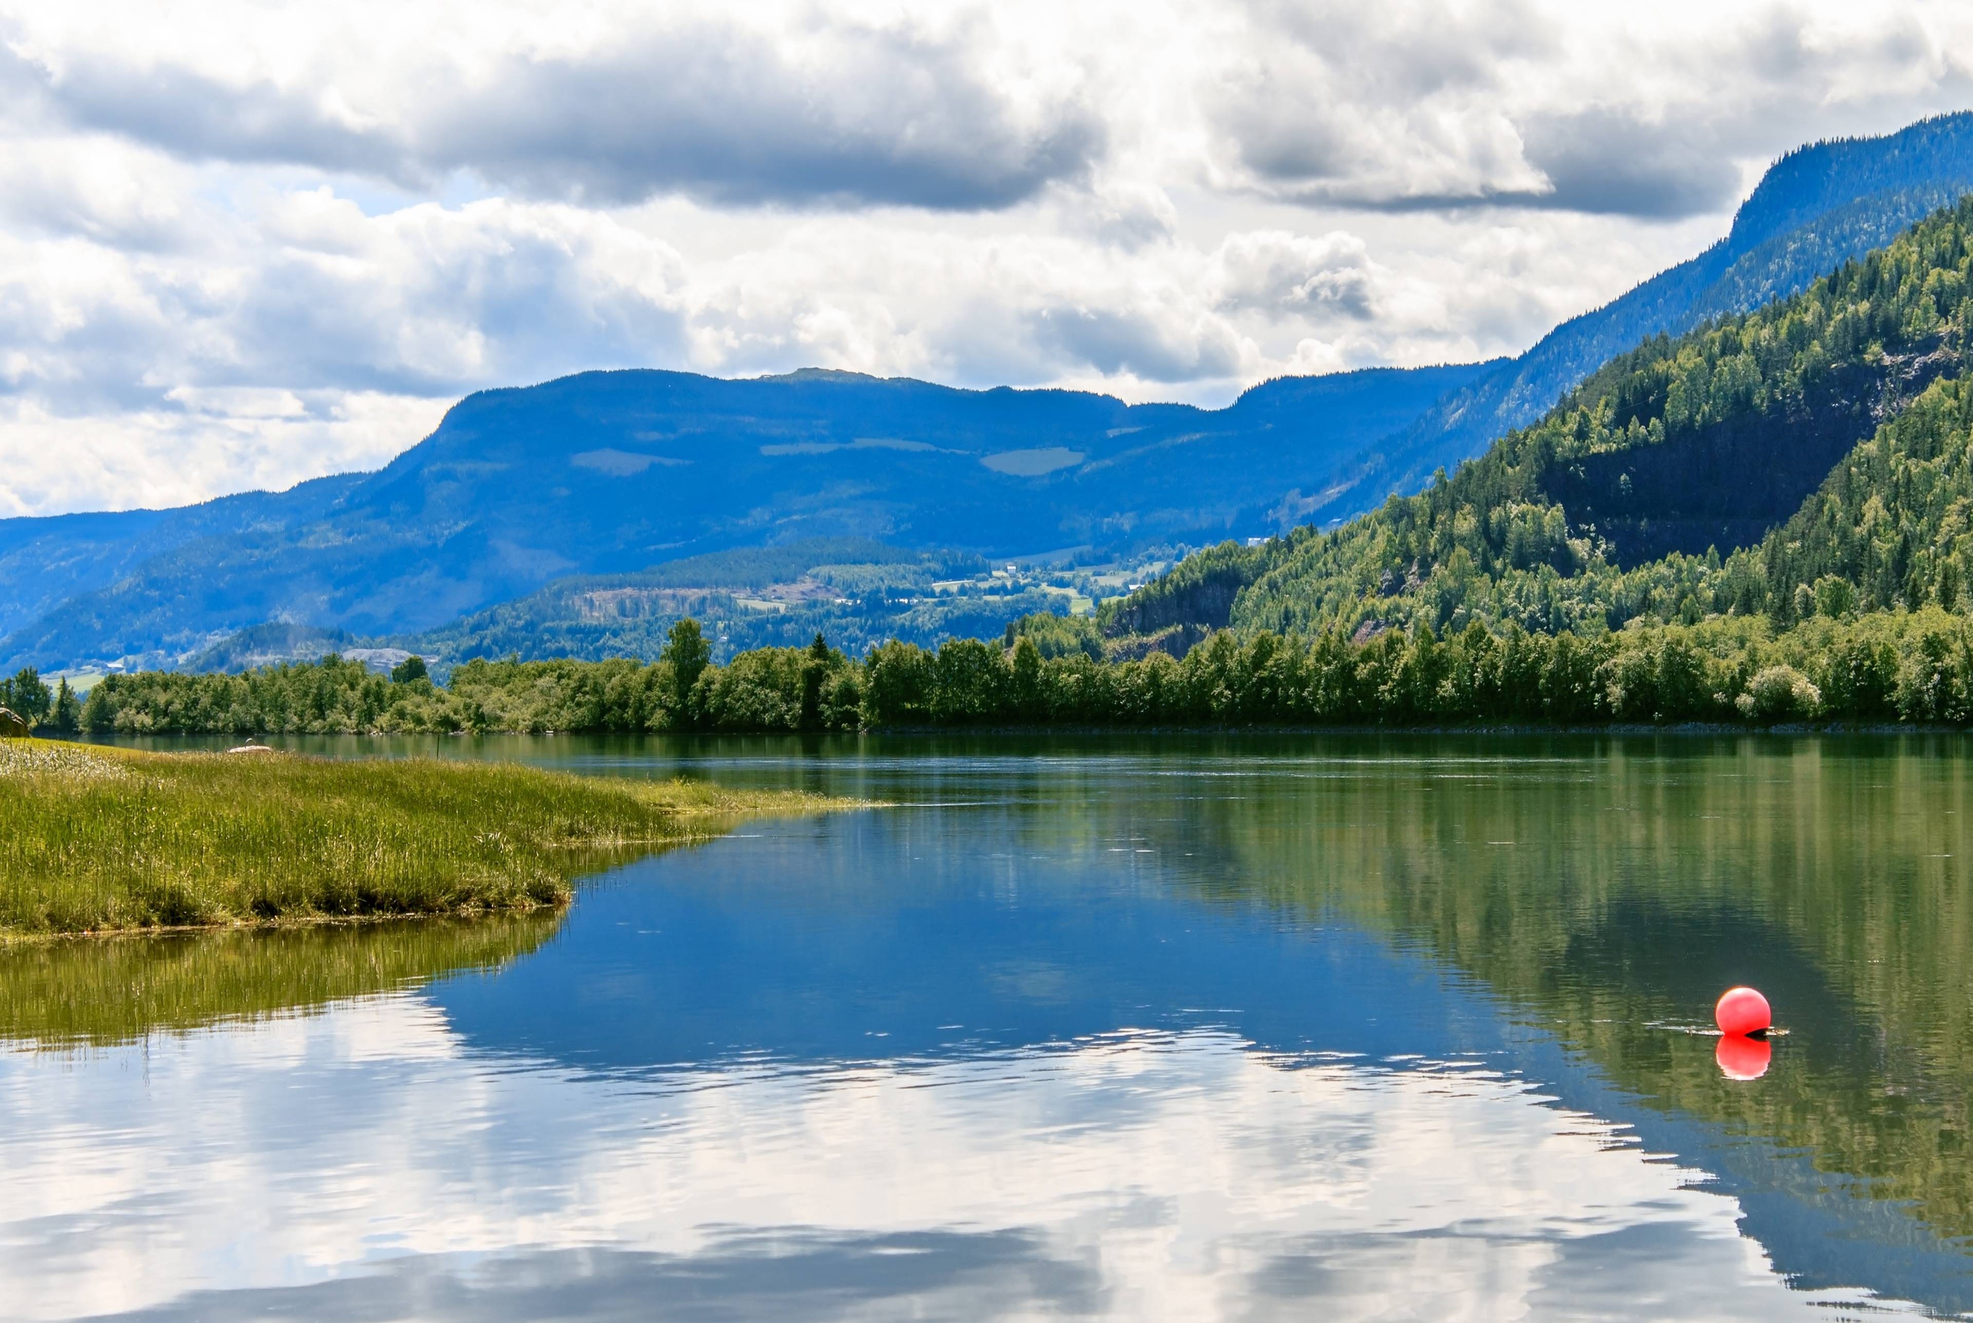
M 199 219 L 172 260 L 0 241 L 0 392 L 53 414 L 209 386 L 432 396 L 681 353 L 677 254 L 596 213 L 365 217 L 310 189 Z

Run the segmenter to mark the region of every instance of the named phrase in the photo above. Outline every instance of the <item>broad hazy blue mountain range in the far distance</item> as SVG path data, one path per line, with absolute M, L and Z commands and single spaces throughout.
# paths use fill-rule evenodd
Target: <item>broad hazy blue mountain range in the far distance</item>
M 1284 497 L 1482 369 L 1282 379 L 1223 410 L 848 373 L 487 390 L 379 473 L 255 497 L 256 519 L 150 556 L 103 550 L 63 578 L 65 524 L 30 538 L 14 574 L 55 588 L 24 597 L 41 611 L 0 661 L 158 664 L 262 621 L 418 631 L 572 574 L 817 536 L 1008 556 L 1263 532 Z M 0 548 L 18 522 L 0 521 Z

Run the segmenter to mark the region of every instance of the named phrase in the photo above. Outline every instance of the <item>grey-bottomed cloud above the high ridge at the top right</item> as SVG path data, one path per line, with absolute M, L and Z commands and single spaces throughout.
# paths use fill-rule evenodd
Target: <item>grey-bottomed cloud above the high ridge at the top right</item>
M 1918 12 L 1673 0 L 1634 22 L 1527 0 L 1312 0 L 1251 14 L 1253 51 L 1209 97 L 1213 168 L 1306 205 L 1707 215 L 1782 142 L 1857 132 L 1859 110 L 1874 120 L 1914 91 L 1936 106 L 1973 91 L 1957 34 Z

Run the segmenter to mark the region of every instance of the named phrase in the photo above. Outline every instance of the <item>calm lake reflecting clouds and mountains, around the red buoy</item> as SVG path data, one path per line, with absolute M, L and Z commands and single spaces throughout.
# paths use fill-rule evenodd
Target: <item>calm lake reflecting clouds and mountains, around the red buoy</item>
M 886 806 L 0 950 L 0 1317 L 1973 1311 L 1965 739 L 286 743 Z

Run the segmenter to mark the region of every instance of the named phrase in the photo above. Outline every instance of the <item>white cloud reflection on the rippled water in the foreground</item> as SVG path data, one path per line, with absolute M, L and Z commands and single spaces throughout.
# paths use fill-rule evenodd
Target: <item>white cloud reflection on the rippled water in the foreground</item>
M 4 1311 L 32 1319 L 1196 1319 L 1310 1297 L 1332 1319 L 1618 1299 L 1752 1319 L 1833 1299 L 1788 1291 L 1693 1171 L 1521 1080 L 1209 1029 L 612 1080 L 491 1063 L 385 996 L 0 1057 L 0 1163 Z

